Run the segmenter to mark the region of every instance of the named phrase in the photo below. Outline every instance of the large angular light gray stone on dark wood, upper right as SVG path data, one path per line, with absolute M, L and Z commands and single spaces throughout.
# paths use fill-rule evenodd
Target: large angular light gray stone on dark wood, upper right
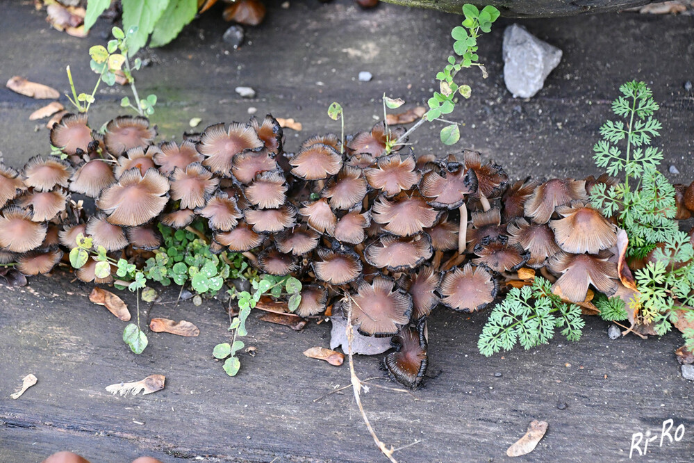
M 560 49 L 536 38 L 523 26 L 513 24 L 504 31 L 504 82 L 513 97 L 533 97 L 560 60 Z

